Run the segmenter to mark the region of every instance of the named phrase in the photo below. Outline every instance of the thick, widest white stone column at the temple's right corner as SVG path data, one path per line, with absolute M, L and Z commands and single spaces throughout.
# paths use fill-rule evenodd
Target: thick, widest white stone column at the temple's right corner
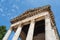
M 45 16 L 45 40 L 56 40 L 49 15 Z

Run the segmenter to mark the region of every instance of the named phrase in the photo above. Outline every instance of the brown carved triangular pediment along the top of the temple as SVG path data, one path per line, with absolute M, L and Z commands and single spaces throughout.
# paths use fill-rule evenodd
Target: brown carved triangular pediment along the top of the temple
M 53 14 L 52 14 L 52 11 L 51 11 L 51 9 L 50 9 L 50 5 L 46 5 L 46 6 L 43 6 L 43 7 L 38 7 L 38 8 L 34 8 L 34 9 L 27 10 L 27 11 L 24 12 L 22 15 L 19 15 L 19 16 L 17 16 L 16 18 L 13 18 L 13 19 L 11 20 L 11 23 L 12 23 L 12 24 L 13 24 L 13 23 L 16 23 L 16 22 L 21 21 L 21 20 L 23 20 L 23 19 L 25 19 L 25 18 L 34 16 L 34 15 L 36 15 L 36 14 L 38 14 L 38 13 L 46 12 L 46 11 L 51 12 L 50 15 L 51 15 L 52 19 L 54 19 Z

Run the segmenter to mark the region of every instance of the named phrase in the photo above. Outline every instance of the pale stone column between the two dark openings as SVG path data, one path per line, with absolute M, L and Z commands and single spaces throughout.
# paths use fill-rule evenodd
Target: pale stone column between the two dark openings
M 26 40 L 33 40 L 34 25 L 35 25 L 35 20 L 31 20 L 31 24 L 28 30 Z

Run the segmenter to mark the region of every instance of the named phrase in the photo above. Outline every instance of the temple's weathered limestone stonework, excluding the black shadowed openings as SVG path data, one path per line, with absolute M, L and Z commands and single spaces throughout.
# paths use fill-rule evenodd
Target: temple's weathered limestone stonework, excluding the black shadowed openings
M 35 37 L 33 37 L 35 21 L 40 21 L 42 19 L 45 19 L 45 33 L 40 33 Z M 22 25 L 19 25 L 20 23 Z M 24 36 L 24 38 L 26 39 L 23 39 L 23 37 L 21 37 L 23 40 L 59 40 L 58 32 L 56 31 L 57 29 L 54 21 L 54 15 L 50 10 L 50 6 L 43 6 L 40 8 L 28 10 L 21 16 L 18 16 L 13 20 L 11 20 L 12 29 L 8 30 L 3 40 L 8 40 L 8 37 L 14 28 L 16 28 L 17 30 L 15 30 L 15 35 L 13 36 L 12 40 L 18 40 L 22 30 L 22 26 L 27 25 L 27 23 L 29 23 L 30 26 L 29 26 L 27 37 L 26 35 Z M 55 30 L 52 24 L 55 27 Z M 16 26 L 16 25 L 19 25 L 19 26 Z M 21 35 L 23 34 L 24 33 L 21 33 Z

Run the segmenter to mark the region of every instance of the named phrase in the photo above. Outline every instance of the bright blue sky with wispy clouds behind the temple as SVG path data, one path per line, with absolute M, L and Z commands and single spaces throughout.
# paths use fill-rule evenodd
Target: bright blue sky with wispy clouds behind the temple
M 0 0 L 0 26 L 6 25 L 8 30 L 11 23 L 10 20 L 22 14 L 28 9 L 51 5 L 54 13 L 56 26 L 60 33 L 60 0 Z M 12 32 L 9 40 L 13 37 Z

